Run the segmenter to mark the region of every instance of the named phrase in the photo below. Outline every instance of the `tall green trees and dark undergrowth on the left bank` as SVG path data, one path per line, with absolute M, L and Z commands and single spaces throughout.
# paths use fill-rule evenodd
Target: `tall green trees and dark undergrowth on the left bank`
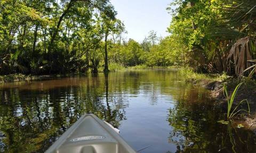
M 0 74 L 97 72 L 102 38 L 123 30 L 107 0 L 4 0 L 0 8 Z

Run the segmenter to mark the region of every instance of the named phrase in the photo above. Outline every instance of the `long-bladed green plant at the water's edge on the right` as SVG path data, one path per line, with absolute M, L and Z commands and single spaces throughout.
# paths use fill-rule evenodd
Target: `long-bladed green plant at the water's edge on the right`
M 240 87 L 242 84 L 243 84 L 243 83 L 239 83 L 239 84 L 236 86 L 235 90 L 234 90 L 233 93 L 231 94 L 230 99 L 228 98 L 227 85 L 224 84 L 224 86 L 223 86 L 223 93 L 224 93 L 224 95 L 226 96 L 226 98 L 227 98 L 227 103 L 228 103 L 228 110 L 227 110 L 227 118 L 228 118 L 228 119 L 231 119 L 231 118 L 233 118 L 235 115 L 238 115 L 239 112 L 241 112 L 241 111 L 246 111 L 245 109 L 239 109 L 239 110 L 237 110 L 238 107 L 239 107 L 243 102 L 246 102 L 246 103 L 247 103 L 248 111 L 246 111 L 246 112 L 249 112 L 249 113 L 250 113 L 250 106 L 249 106 L 249 103 L 248 103 L 248 101 L 247 101 L 246 99 L 240 101 L 240 102 L 237 104 L 237 106 L 233 109 L 233 111 L 231 111 L 231 108 L 232 108 L 232 106 L 233 106 L 233 104 L 234 104 L 234 100 L 235 100 L 237 91 L 238 91 L 239 87 Z

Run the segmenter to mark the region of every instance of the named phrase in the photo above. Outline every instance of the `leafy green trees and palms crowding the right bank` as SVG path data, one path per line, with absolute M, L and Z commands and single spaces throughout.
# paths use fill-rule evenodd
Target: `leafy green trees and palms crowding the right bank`
M 176 9 L 172 9 L 176 5 Z M 255 59 L 256 1 L 176 0 L 169 31 L 185 47 L 184 64 L 207 73 L 243 74 Z

